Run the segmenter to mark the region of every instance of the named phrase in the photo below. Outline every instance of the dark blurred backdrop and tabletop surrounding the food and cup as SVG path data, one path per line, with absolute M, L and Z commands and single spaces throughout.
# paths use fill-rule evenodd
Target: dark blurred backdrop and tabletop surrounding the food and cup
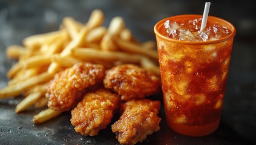
M 163 118 L 159 132 L 142 144 L 256 144 L 256 19 L 253 1 L 210 1 L 209 14 L 232 22 L 237 28 L 219 129 L 200 138 L 185 137 L 168 129 Z M 7 85 L 6 72 L 13 60 L 5 56 L 8 45 L 21 45 L 24 37 L 54 31 L 62 18 L 87 22 L 91 11 L 105 14 L 104 25 L 122 16 L 126 27 L 141 41 L 155 40 L 157 21 L 177 14 L 202 14 L 205 1 L 0 1 L 0 88 Z M 21 97 L 0 100 L 0 144 L 119 144 L 110 126 L 97 137 L 74 132 L 70 112 L 47 123 L 33 125 L 40 109 L 15 114 Z

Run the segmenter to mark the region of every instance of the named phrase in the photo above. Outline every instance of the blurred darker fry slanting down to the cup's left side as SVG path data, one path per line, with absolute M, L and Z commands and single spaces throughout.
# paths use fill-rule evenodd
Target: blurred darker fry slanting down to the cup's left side
M 151 59 L 158 61 L 157 51 L 145 50 L 140 45 L 137 45 L 136 43 L 127 42 L 118 37 L 113 37 L 113 38 L 114 38 L 114 42 L 117 44 L 120 50 L 128 53 L 142 54 L 150 57 Z

